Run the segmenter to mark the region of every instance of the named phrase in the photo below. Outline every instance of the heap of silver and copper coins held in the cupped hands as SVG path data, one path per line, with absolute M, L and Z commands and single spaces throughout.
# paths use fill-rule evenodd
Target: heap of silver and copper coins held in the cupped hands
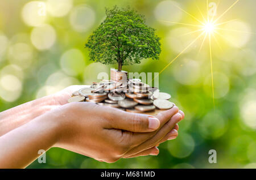
M 142 83 L 140 79 L 102 80 L 86 85 L 73 92 L 68 102 L 94 102 L 98 105 L 118 108 L 130 113 L 155 115 L 160 110 L 171 109 L 174 104 L 168 101 L 171 95 L 158 88 Z

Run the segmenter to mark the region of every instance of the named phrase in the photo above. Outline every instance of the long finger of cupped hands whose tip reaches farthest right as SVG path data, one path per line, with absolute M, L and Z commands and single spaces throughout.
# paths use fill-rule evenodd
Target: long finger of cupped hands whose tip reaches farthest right
M 178 123 L 179 121 L 181 121 L 182 119 L 182 115 L 177 113 L 175 114 L 170 121 L 168 121 L 166 123 L 166 125 L 164 125 L 156 135 L 154 135 L 154 137 L 152 137 L 151 139 L 146 140 L 144 143 L 142 143 L 141 145 L 138 145 L 137 147 L 134 147 L 132 149 L 130 149 L 130 151 L 126 152 L 126 155 L 130 156 L 130 155 L 134 155 L 135 153 L 138 152 L 142 152 L 144 149 L 148 149 L 150 147 L 154 147 L 156 144 L 159 144 L 160 140 L 164 138 L 164 136 L 166 136 L 166 134 L 168 134 L 168 132 L 170 132 L 176 125 L 176 123 Z

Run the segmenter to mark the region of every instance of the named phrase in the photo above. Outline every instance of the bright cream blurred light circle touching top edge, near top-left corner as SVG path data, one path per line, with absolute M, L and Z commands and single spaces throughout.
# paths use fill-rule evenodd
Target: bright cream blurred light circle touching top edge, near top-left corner
M 22 19 L 30 26 L 40 26 L 46 22 L 46 3 L 30 1 L 22 9 Z

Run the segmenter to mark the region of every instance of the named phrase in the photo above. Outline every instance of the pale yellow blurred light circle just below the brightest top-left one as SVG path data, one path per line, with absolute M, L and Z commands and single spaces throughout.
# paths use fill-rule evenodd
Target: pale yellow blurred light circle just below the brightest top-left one
M 35 27 L 31 32 L 31 42 L 38 50 L 46 50 L 56 41 L 55 29 L 48 24 L 40 27 Z

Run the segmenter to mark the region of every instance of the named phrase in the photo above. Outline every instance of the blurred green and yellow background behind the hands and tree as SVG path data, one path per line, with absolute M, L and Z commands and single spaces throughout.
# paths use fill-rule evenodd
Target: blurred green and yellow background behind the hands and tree
M 210 2 L 218 1 L 209 0 Z M 220 1 L 220 16 L 234 0 Z M 105 7 L 130 6 L 146 16 L 161 37 L 158 61 L 144 59 L 123 66 L 129 72 L 160 72 L 200 32 L 197 27 L 163 21 L 199 24 L 207 1 L 49 0 L 0 1 L 0 111 L 57 92 L 72 84 L 97 81 L 110 67 L 89 61 L 84 44 L 104 20 Z M 256 168 L 256 54 L 254 0 L 230 9 L 212 37 L 215 108 L 212 99 L 209 41 L 199 38 L 159 75 L 159 88 L 172 95 L 185 113 L 179 136 L 160 144 L 158 156 L 98 162 L 60 148 L 47 152 L 46 164 L 28 168 Z M 235 30 L 235 31 L 234 31 Z M 217 163 L 208 162 L 216 149 Z

